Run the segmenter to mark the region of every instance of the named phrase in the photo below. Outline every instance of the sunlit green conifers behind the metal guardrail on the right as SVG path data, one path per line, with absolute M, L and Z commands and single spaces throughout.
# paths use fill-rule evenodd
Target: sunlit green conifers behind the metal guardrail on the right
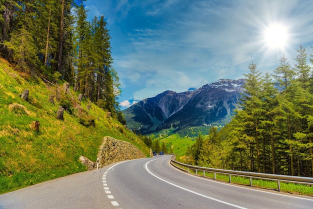
M 230 123 L 199 135 L 185 162 L 312 177 L 313 77 L 306 49 L 300 45 L 293 65 L 282 56 L 273 74 L 262 74 L 253 61 L 248 69 Z

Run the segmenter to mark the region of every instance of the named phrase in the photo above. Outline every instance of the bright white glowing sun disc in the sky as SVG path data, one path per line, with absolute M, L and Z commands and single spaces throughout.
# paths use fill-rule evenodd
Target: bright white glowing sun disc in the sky
M 271 24 L 264 29 L 264 41 L 269 48 L 283 49 L 287 39 L 287 29 L 281 24 Z

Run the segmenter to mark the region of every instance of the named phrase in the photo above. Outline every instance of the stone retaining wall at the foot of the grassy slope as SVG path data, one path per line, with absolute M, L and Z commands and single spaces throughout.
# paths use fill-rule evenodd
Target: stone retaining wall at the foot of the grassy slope
M 133 144 L 105 136 L 99 148 L 99 167 L 126 159 L 143 158 L 145 155 Z

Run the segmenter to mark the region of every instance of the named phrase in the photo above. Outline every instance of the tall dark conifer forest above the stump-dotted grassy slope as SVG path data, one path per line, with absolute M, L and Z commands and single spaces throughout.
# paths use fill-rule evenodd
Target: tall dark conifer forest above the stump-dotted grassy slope
M 0 54 L 15 68 L 67 81 L 125 124 L 104 16 L 86 21 L 83 0 L 0 0 Z

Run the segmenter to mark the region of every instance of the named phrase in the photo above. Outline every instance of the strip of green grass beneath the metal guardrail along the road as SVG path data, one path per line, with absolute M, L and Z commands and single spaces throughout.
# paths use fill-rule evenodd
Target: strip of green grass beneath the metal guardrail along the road
M 180 165 L 178 166 L 182 168 L 182 166 Z M 184 167 L 184 169 L 187 170 L 186 167 Z M 195 174 L 194 169 L 188 169 L 188 170 L 190 173 Z M 203 176 L 203 171 L 197 170 L 197 175 Z M 214 178 L 214 173 L 206 171 L 205 177 Z M 216 180 L 229 182 L 229 175 L 216 173 Z M 250 179 L 247 177 L 242 177 L 242 176 L 231 175 L 231 182 L 236 183 L 236 184 L 242 184 L 242 185 L 250 185 Z M 277 182 L 271 181 L 271 180 L 262 180 L 262 179 L 252 178 L 252 186 L 258 187 L 258 188 L 277 190 Z M 313 186 L 300 184 L 300 183 L 280 182 L 280 191 L 311 196 L 313 195 Z

